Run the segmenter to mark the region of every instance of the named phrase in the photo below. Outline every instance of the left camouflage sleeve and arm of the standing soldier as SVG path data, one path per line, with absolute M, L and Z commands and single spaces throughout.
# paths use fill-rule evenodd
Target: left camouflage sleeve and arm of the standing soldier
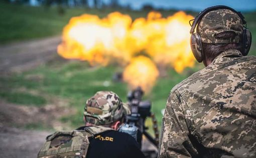
M 162 122 L 159 157 L 192 157 L 193 148 L 184 119 L 181 101 L 170 93 Z

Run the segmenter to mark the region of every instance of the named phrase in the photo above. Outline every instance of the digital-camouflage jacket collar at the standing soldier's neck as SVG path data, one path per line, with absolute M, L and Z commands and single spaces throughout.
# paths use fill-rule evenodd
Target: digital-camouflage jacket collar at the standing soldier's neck
M 237 49 L 228 49 L 226 51 L 221 52 L 211 64 L 222 63 L 224 61 L 230 60 L 232 57 L 240 57 L 242 53 Z M 210 65 L 211 65 L 210 64 Z

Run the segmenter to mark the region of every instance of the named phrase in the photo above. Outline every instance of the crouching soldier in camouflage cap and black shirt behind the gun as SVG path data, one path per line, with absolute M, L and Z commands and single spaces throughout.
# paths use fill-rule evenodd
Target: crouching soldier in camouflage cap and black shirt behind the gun
M 134 137 L 117 131 L 129 113 L 116 93 L 98 91 L 86 101 L 85 126 L 47 136 L 38 157 L 145 157 Z

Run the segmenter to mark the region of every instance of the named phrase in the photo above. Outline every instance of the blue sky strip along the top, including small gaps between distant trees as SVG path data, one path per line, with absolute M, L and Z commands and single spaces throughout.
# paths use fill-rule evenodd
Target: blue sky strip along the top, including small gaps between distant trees
M 72 1 L 72 0 L 71 0 Z M 109 3 L 111 0 L 102 0 L 104 3 Z M 130 5 L 134 10 L 142 9 L 143 5 L 150 4 L 154 8 L 159 9 L 176 9 L 176 10 L 191 10 L 201 11 L 204 8 L 214 5 L 227 5 L 234 8 L 237 11 L 256 11 L 255 0 L 180 0 L 176 2 L 174 0 L 118 0 L 122 6 Z M 30 5 L 40 5 L 39 0 L 29 0 Z M 93 0 L 88 0 L 88 5 L 93 7 Z M 71 2 L 72 6 L 72 2 Z

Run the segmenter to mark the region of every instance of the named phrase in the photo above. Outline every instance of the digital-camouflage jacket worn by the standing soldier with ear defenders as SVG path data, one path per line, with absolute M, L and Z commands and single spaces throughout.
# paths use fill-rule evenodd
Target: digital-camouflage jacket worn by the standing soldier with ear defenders
M 159 157 L 256 157 L 256 57 L 230 49 L 170 92 Z

